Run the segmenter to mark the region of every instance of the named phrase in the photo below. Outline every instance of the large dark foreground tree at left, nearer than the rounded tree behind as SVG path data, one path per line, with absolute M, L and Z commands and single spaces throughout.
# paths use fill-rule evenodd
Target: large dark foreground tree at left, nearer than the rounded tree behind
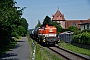
M 15 3 L 14 0 L 0 0 L 0 44 L 8 44 L 14 33 L 19 35 L 17 27 L 21 25 L 24 8 L 17 10 Z

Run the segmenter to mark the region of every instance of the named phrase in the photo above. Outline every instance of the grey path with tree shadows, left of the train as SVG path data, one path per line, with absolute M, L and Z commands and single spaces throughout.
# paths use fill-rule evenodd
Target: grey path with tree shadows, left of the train
M 7 52 L 0 60 L 29 60 L 30 47 L 27 37 L 23 37 L 18 44 Z

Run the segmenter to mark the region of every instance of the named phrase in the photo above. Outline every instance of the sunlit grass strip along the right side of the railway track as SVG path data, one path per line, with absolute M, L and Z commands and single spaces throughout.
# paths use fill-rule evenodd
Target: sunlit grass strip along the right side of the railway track
M 77 47 L 77 46 L 74 46 L 72 44 L 65 43 L 65 42 L 60 42 L 58 45 L 65 49 L 90 56 L 90 50 L 88 50 L 88 49 L 80 48 L 80 47 Z

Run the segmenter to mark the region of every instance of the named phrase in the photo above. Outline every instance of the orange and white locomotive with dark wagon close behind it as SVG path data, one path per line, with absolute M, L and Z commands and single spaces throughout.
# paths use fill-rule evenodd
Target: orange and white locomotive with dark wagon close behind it
M 33 35 L 34 35 L 34 38 L 36 38 L 38 42 L 41 42 L 41 43 L 56 44 L 60 42 L 56 34 L 55 26 L 48 26 L 48 25 L 41 26 L 34 30 Z

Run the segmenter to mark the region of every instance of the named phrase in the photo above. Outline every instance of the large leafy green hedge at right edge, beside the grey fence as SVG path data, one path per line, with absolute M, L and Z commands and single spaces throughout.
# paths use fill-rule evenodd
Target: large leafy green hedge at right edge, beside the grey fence
M 77 43 L 90 44 L 90 29 L 75 31 L 72 40 Z

